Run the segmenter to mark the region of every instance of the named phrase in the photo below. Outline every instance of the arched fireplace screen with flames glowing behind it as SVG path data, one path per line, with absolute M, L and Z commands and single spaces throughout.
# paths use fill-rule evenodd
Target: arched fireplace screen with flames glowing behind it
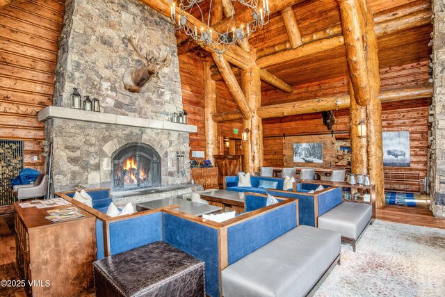
M 117 191 L 161 186 L 161 157 L 153 147 L 131 143 L 113 156 L 113 187 Z

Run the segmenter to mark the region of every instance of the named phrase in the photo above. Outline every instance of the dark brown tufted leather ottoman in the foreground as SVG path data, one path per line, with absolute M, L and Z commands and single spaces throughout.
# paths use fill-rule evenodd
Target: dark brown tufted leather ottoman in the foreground
M 204 262 L 156 241 L 93 263 L 96 296 L 204 296 Z

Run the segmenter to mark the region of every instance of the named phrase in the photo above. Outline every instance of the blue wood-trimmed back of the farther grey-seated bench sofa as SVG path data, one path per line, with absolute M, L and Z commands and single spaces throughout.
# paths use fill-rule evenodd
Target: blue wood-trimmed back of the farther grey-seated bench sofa
M 337 186 L 324 185 L 325 189 L 308 193 L 320 186 L 319 184 L 297 183 L 297 191 L 281 191 L 268 189 L 267 193 L 275 197 L 298 199 L 298 215 L 300 225 L 318 227 L 318 216 L 325 214 L 343 201 L 342 189 Z

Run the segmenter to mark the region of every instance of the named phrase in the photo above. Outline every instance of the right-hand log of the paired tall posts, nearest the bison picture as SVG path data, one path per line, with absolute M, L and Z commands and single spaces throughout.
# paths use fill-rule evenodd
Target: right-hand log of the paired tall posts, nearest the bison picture
M 366 5 L 364 3 L 364 5 Z M 379 99 L 380 74 L 378 67 L 377 36 L 374 30 L 374 20 L 371 10 L 366 11 L 366 65 L 371 100 L 366 106 L 368 117 L 368 171 L 371 182 L 375 184 L 375 207 L 385 207 L 385 182 L 383 177 L 383 147 L 382 147 L 382 102 Z

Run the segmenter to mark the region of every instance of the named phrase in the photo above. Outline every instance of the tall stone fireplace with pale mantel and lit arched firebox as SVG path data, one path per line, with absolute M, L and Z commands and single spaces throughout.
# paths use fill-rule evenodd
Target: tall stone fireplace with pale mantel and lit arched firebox
M 140 93 L 122 83 L 128 67 L 143 65 L 124 38 L 130 33 L 143 49 L 172 56 Z M 138 0 L 67 0 L 55 79 L 54 106 L 39 113 L 47 143 L 53 143 L 53 191 L 82 186 L 118 195 L 190 182 L 188 133 L 197 127 L 168 121 L 183 109 L 168 19 Z M 99 99 L 101 112 L 72 109 L 73 88 Z

